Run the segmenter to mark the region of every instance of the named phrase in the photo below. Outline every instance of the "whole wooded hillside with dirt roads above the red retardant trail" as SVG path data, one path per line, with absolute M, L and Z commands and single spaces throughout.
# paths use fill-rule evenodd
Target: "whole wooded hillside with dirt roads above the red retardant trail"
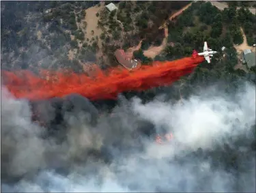
M 113 3 L 118 10 L 110 13 L 99 1 L 2 2 L 2 69 L 86 72 L 92 63 L 104 69 L 118 65 L 117 48 L 147 64 L 190 56 L 207 41 L 221 54 L 197 71 L 244 76 L 244 71 L 233 72 L 239 63 L 234 46 L 244 42 L 241 27 L 248 46 L 256 42 L 255 15 L 247 8 L 229 3 L 219 10 L 203 1 Z

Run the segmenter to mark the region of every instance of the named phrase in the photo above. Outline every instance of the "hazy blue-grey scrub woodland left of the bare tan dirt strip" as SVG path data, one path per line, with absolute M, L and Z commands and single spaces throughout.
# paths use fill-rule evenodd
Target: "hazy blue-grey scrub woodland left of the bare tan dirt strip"
M 85 9 L 98 1 L 6 1 L 1 2 L 1 53 L 3 69 L 71 68 L 82 72 L 80 61 L 96 61 L 96 46 L 83 44 L 78 58 L 68 59 L 68 50 L 77 48 L 70 34 L 83 40 L 76 21 Z M 20 9 L 23 8 L 23 9 Z M 51 11 L 50 11 L 51 10 Z M 42 32 L 41 40 L 37 31 Z M 86 53 L 86 54 L 85 54 Z

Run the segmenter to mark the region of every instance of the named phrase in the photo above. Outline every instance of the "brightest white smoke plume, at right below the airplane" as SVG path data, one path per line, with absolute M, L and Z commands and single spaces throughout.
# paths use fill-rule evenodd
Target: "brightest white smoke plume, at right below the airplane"
M 183 105 L 153 101 L 141 104 L 134 100 L 134 112 L 140 117 L 153 121 L 156 125 L 168 125 L 175 140 L 195 149 L 213 147 L 225 136 L 236 137 L 248 129 L 246 125 L 255 123 L 255 87 L 245 85 L 236 100 L 223 97 L 210 89 L 209 95 L 191 96 Z M 239 125 L 236 126 L 235 125 Z

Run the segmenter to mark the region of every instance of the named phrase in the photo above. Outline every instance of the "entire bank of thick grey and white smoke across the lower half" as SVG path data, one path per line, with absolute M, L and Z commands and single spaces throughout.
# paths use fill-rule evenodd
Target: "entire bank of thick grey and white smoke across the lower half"
M 231 95 L 214 87 L 182 103 L 120 97 L 111 113 L 72 95 L 41 104 L 45 127 L 31 122 L 29 102 L 5 89 L 1 98 L 3 192 L 255 190 L 254 85 Z M 173 141 L 158 145 L 150 130 Z

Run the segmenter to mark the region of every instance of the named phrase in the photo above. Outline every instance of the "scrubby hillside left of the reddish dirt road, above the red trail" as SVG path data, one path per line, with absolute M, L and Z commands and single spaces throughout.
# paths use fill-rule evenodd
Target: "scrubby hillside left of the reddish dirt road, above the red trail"
M 91 63 L 117 65 L 116 48 L 135 46 L 143 36 L 160 44 L 158 25 L 187 2 L 114 3 L 119 10 L 110 14 L 99 1 L 1 2 L 2 68 L 84 72 Z

